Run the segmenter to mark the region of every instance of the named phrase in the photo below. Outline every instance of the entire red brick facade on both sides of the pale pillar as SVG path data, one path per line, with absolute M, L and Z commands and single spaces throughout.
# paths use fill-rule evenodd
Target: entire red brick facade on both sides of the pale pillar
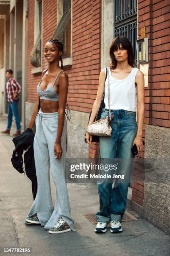
M 42 51 L 57 24 L 57 0 L 42 1 Z M 34 43 L 34 0 L 28 1 L 28 56 Z M 71 110 L 89 113 L 95 100 L 100 74 L 101 1 L 72 0 L 72 66 L 69 76 L 68 104 Z M 170 128 L 170 1 L 138 0 L 138 39 L 140 28 L 146 28 L 149 38 L 149 87 L 145 87 L 145 125 Z M 47 62 L 42 55 L 42 69 Z M 37 98 L 40 74 L 31 74 L 28 58 L 28 102 Z M 90 146 L 89 157 L 95 158 L 99 145 Z M 144 151 L 140 152 L 144 157 Z M 135 178 L 135 174 L 134 174 Z M 133 201 L 143 205 L 144 181 L 133 182 Z

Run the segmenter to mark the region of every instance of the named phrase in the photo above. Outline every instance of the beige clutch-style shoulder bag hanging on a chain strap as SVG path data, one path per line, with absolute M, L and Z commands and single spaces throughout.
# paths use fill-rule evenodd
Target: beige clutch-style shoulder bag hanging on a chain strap
M 95 136 L 111 136 L 112 128 L 110 127 L 110 84 L 109 84 L 109 68 L 107 68 L 108 74 L 108 115 L 101 118 L 87 127 L 87 133 Z M 99 111 L 99 110 L 98 110 Z M 98 113 L 97 111 L 97 113 Z

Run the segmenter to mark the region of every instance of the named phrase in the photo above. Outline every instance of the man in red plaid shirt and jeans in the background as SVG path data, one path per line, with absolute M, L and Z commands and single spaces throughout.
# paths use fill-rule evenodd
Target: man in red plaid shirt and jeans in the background
M 1 133 L 4 135 L 10 135 L 10 129 L 13 121 L 13 115 L 16 122 L 17 131 L 13 134 L 13 136 L 20 135 L 20 118 L 18 115 L 18 101 L 19 101 L 19 93 L 21 91 L 20 84 L 13 78 L 13 70 L 8 69 L 6 71 L 6 95 L 8 101 L 8 110 L 7 110 L 7 129 L 2 131 Z

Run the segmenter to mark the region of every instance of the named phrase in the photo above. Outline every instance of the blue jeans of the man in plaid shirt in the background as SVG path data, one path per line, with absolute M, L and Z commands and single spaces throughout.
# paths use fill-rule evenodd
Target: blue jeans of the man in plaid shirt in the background
M 7 109 L 7 129 L 10 130 L 12 121 L 13 121 L 13 115 L 15 118 L 16 126 L 17 126 L 17 131 L 20 131 L 20 118 L 18 115 L 18 100 L 14 100 L 13 103 L 9 102 L 8 103 L 8 109 Z

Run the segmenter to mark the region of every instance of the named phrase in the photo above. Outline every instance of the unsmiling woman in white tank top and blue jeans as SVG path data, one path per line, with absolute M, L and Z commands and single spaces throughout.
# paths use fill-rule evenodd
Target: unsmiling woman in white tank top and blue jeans
M 117 174 L 130 176 L 134 155 L 131 147 L 136 144 L 138 154 L 143 149 L 143 120 L 144 120 L 144 75 L 134 67 L 133 47 L 123 36 L 117 37 L 110 46 L 110 68 L 102 69 L 99 76 L 97 97 L 92 107 L 89 124 L 95 120 L 103 93 L 105 108 L 102 109 L 101 118 L 108 115 L 108 78 L 110 84 L 110 137 L 100 136 L 100 158 L 120 159 L 117 161 Z M 138 103 L 138 125 L 137 125 Z M 87 143 L 92 144 L 92 135 L 86 133 Z M 105 160 L 106 161 L 106 160 Z M 109 160 L 108 160 L 109 161 Z M 117 163 L 116 162 L 116 163 Z M 126 177 L 126 178 L 127 178 Z M 112 182 L 97 181 L 100 197 L 100 211 L 96 213 L 96 233 L 107 231 L 110 222 L 110 232 L 121 232 L 122 217 L 127 204 L 129 182 L 117 182 L 114 187 Z

